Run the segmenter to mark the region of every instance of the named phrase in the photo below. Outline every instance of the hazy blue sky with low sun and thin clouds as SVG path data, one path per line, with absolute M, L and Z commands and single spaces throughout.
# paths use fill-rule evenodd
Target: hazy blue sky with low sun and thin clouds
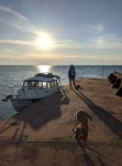
M 0 0 L 0 65 L 122 65 L 122 0 Z

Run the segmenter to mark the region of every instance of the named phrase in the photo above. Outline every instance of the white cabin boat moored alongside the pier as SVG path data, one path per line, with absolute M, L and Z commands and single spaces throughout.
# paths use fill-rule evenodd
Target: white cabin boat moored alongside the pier
M 2 102 L 11 101 L 14 110 L 21 112 L 32 103 L 38 102 L 44 97 L 59 92 L 60 77 L 53 73 L 37 73 L 33 77 L 23 81 L 22 87 L 14 91 L 15 86 L 10 86 L 11 94 Z

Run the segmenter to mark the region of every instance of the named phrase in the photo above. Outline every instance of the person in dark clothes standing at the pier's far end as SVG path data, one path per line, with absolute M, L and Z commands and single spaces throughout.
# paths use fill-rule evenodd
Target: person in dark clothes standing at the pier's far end
M 74 83 L 74 86 L 76 89 L 76 82 L 75 82 L 76 70 L 75 70 L 75 66 L 73 64 L 70 65 L 70 68 L 68 70 L 68 79 L 69 79 L 70 89 L 71 89 L 71 82 Z

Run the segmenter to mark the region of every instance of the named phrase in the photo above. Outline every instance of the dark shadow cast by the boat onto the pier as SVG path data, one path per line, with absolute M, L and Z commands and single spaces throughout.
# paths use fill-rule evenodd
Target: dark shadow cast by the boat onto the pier
M 11 127 L 14 127 L 15 131 L 12 139 L 15 139 L 18 137 L 16 135 L 20 135 L 18 137 L 20 141 L 26 139 L 25 136 L 23 137 L 26 124 L 29 124 L 33 129 L 41 128 L 43 125 L 46 125 L 48 121 L 56 120 L 62 115 L 60 105 L 63 104 L 69 104 L 69 98 L 65 91 L 63 91 L 63 93 L 55 93 L 52 96 L 47 96 L 29 108 L 16 113 L 13 116 L 13 120 L 15 120 L 14 122 L 9 123 L 10 120 L 7 121 L 0 129 L 0 134 Z

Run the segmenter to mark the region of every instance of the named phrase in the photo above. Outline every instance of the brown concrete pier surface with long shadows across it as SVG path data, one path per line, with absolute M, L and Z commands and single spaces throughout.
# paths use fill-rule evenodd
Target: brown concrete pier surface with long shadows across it
M 107 79 L 77 84 L 0 123 L 1 166 L 122 166 L 122 96 Z M 77 110 L 92 117 L 86 155 L 71 132 Z

